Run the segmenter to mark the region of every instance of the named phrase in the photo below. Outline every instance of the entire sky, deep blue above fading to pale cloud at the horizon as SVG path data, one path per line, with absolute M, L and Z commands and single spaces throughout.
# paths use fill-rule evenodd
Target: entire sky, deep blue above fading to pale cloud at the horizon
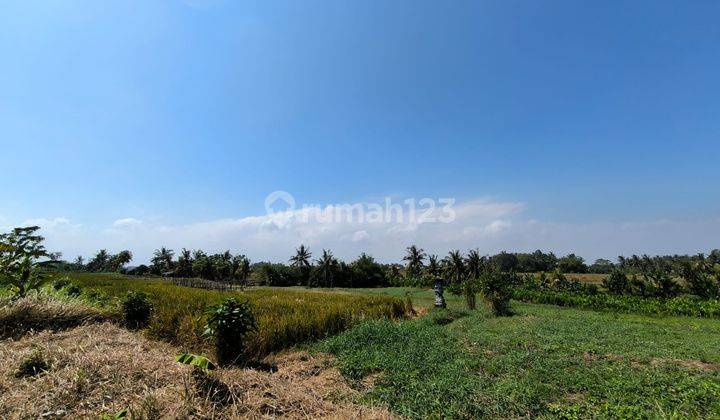
M 380 259 L 411 242 L 709 250 L 719 15 L 714 1 L 5 1 L 0 226 L 39 223 L 66 257 L 139 260 L 161 245 L 282 259 L 300 242 Z M 275 190 L 486 207 L 406 234 L 237 230 Z

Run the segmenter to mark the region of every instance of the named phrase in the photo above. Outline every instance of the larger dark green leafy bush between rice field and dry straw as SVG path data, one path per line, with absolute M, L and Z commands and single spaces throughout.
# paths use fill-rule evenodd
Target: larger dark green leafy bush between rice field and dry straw
M 245 350 L 245 335 L 257 330 L 250 303 L 228 298 L 207 311 L 205 335 L 213 339 L 221 365 L 238 361 Z

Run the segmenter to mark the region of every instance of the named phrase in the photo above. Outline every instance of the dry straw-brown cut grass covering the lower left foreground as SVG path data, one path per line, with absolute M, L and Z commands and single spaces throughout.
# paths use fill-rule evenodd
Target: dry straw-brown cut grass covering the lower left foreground
M 0 418 L 97 418 L 128 408 L 133 418 L 373 418 L 393 416 L 353 403 L 353 390 L 328 356 L 289 353 L 275 369 L 219 369 L 203 391 L 179 349 L 110 323 L 0 342 Z M 16 377 L 33 353 L 47 372 Z

